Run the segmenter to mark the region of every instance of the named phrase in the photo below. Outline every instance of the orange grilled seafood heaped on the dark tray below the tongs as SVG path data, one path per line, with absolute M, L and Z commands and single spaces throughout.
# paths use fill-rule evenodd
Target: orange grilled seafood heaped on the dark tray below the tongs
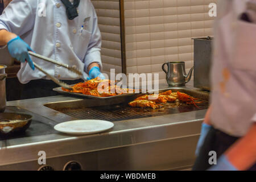
M 123 89 L 115 85 L 115 81 L 101 80 L 99 77 L 89 81 L 80 82 L 72 86 L 72 90 L 61 88 L 65 92 L 82 93 L 96 97 L 118 96 L 126 93 L 134 93 L 134 89 Z

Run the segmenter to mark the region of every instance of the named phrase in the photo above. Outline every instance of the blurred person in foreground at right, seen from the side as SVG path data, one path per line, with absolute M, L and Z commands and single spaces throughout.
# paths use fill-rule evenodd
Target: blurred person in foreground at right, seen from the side
M 211 105 L 193 169 L 256 170 L 256 1 L 219 3 Z M 217 164 L 209 164 L 210 151 Z

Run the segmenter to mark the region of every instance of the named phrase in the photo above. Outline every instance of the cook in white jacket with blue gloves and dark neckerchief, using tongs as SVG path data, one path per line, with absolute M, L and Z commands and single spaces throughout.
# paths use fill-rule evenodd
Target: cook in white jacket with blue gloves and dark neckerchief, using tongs
M 30 57 L 28 51 L 75 65 L 84 71 L 84 80 L 104 78 L 101 34 L 90 0 L 13 0 L 0 16 L 0 46 L 8 46 L 10 55 L 22 63 L 17 75 L 25 84 L 21 99 L 55 94 L 52 88 L 57 85 L 32 61 L 68 84 L 81 81 L 76 73 Z

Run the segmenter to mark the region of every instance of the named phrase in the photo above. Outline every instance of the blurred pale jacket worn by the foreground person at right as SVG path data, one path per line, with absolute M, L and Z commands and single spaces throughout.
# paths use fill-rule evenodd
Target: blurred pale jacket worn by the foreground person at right
M 221 0 L 214 26 L 210 119 L 235 137 L 245 135 L 256 120 L 256 24 L 238 18 L 246 2 Z

